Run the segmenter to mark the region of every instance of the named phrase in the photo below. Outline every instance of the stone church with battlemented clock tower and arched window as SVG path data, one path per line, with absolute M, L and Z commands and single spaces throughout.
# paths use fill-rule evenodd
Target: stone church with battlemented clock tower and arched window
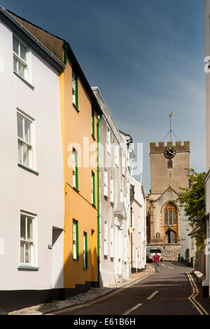
M 147 196 L 147 246 L 161 248 L 164 258 L 178 260 L 181 252 L 181 223 L 186 220 L 176 204 L 181 188 L 188 188 L 190 142 L 150 144 L 151 193 Z

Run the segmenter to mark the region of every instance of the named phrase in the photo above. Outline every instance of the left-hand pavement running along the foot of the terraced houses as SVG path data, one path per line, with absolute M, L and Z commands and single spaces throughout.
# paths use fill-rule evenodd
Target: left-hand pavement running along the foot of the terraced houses
M 33 307 L 9 312 L 8 315 L 44 315 L 53 311 L 65 309 L 66 307 L 73 307 L 78 304 L 84 304 L 85 302 L 90 302 L 104 295 L 108 295 L 109 293 L 112 293 L 119 288 L 123 288 L 124 286 L 127 286 L 141 278 L 144 279 L 145 276 L 154 272 L 154 268 L 147 264 L 144 271 L 130 274 L 130 278 L 122 283 L 111 283 L 108 286 L 101 288 L 91 288 L 89 291 L 87 291 L 87 293 L 80 293 L 79 295 L 69 297 L 66 300 L 39 304 Z

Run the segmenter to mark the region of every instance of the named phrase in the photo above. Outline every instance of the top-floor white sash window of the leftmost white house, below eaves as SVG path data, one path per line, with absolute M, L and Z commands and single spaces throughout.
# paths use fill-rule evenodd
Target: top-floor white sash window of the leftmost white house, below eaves
M 15 52 L 14 48 L 13 48 L 13 71 L 18 74 L 18 76 L 20 76 L 21 78 L 23 78 L 24 80 L 28 81 L 29 83 L 31 83 L 31 70 L 30 70 L 30 66 L 31 66 L 31 48 L 24 42 L 22 41 L 21 38 L 19 38 L 19 36 L 17 36 L 17 34 L 13 34 L 13 38 L 16 39 L 16 41 L 18 41 L 18 53 Z M 23 59 L 21 57 L 21 52 L 20 52 L 20 46 L 23 46 L 26 48 L 26 58 Z M 17 67 L 18 69 L 15 70 L 15 60 L 17 60 Z M 19 65 L 22 65 L 22 73 L 20 73 L 19 70 Z

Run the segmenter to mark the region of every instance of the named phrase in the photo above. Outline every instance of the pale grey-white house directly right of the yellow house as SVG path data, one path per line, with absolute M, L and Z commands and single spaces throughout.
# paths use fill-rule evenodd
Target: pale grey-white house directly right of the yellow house
M 102 286 L 129 278 L 130 160 L 127 144 L 98 87 L 92 87 L 104 113 L 99 123 L 100 280 Z

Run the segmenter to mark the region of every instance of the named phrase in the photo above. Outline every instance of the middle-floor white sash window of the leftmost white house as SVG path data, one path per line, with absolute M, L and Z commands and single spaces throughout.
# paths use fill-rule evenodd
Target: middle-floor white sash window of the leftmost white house
M 35 136 L 34 136 L 34 119 L 27 116 L 24 112 L 20 111 L 20 109 L 17 109 L 17 130 L 18 130 L 18 116 L 22 118 L 22 137 L 18 136 L 18 163 L 20 165 L 25 165 L 26 167 L 29 167 L 31 169 L 35 169 L 36 164 L 35 164 Z M 30 142 L 25 139 L 25 120 L 29 122 L 30 124 Z M 21 144 L 21 159 L 20 159 L 20 154 L 19 154 L 19 144 Z M 23 148 L 24 146 L 27 146 L 28 152 L 29 152 L 29 163 L 27 164 L 24 162 L 24 153 L 23 153 Z

